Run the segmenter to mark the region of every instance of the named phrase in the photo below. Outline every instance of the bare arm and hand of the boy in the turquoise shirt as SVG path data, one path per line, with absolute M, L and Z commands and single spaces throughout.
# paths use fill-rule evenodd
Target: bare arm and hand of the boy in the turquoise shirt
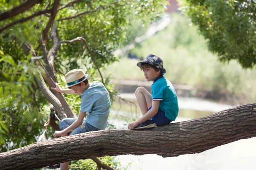
M 157 114 L 157 111 L 158 111 L 158 108 L 159 108 L 159 103 L 160 103 L 160 100 L 153 100 L 152 101 L 152 108 L 147 113 L 145 113 L 142 117 L 137 119 L 135 122 L 129 123 L 128 128 L 129 129 L 134 129 L 134 127 L 136 127 L 140 123 L 150 119 L 155 114 Z

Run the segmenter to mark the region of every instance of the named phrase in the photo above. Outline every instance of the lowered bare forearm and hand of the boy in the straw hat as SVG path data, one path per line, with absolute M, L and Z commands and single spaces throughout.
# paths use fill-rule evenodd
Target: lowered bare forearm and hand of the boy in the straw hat
M 57 138 L 58 136 L 62 136 L 63 134 L 68 133 L 68 132 L 70 132 L 70 131 L 76 129 L 76 127 L 79 127 L 79 126 L 82 124 L 85 115 L 86 115 L 86 112 L 79 112 L 76 121 L 73 122 L 69 127 L 67 127 L 67 128 L 64 129 L 64 130 L 60 130 L 60 131 L 59 131 L 59 130 L 56 130 L 56 131 L 53 133 L 54 138 Z

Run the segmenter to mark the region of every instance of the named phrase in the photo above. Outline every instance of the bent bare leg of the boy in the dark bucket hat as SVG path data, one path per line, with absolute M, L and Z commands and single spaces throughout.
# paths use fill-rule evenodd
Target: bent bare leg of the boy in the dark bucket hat
M 152 95 L 144 87 L 139 87 L 135 91 L 135 96 L 139 104 L 140 111 L 144 115 L 152 105 Z

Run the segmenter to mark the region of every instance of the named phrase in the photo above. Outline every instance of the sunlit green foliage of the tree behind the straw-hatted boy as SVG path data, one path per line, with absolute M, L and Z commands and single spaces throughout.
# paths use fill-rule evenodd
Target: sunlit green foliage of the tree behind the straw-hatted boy
M 48 2 L 43 0 L 42 3 L 21 14 L 1 20 L 0 29 L 38 11 L 51 9 L 55 1 L 51 0 L 50 6 L 45 8 Z M 61 0 L 58 8 L 70 2 L 70 0 Z M 0 0 L 0 13 L 21 3 L 24 3 L 24 0 Z M 58 40 L 84 37 L 91 51 L 91 53 L 88 51 L 84 42 L 61 43 L 54 61 L 59 84 L 64 87 L 63 74 L 74 68 L 83 68 L 90 75 L 90 81 L 102 81 L 98 68 L 104 69 L 107 65 L 116 62 L 118 58 L 113 56 L 112 52 L 137 37 L 134 30 L 139 30 L 140 24 L 146 27 L 151 21 L 157 20 L 165 11 L 165 5 L 166 0 L 82 0 L 59 10 L 53 23 L 57 26 Z M 73 17 L 84 11 L 87 13 Z M 35 82 L 37 73 L 44 74 L 44 71 L 31 63 L 32 55 L 27 55 L 22 47 L 25 45 L 23 43 L 26 43 L 31 45 L 37 56 L 43 54 L 38 42 L 43 37 L 42 32 L 50 20 L 50 13 L 48 14 L 16 23 L 0 32 L 0 152 L 36 142 L 44 131 L 49 102 Z M 73 18 L 63 20 L 65 17 Z M 136 27 L 133 26 L 134 23 L 137 23 Z M 52 39 L 48 37 L 45 44 L 48 53 L 52 44 Z M 30 53 L 32 54 L 31 51 Z M 43 59 L 41 62 L 44 64 Z M 116 91 L 109 82 L 108 76 L 104 77 L 104 84 L 113 101 Z M 73 111 L 78 113 L 80 96 L 65 94 L 65 97 Z M 49 129 L 49 135 L 51 131 L 52 129 Z M 50 137 L 47 136 L 47 139 Z M 111 157 L 106 157 L 104 160 L 107 160 L 108 164 L 113 163 Z M 113 164 L 111 166 L 115 167 Z

